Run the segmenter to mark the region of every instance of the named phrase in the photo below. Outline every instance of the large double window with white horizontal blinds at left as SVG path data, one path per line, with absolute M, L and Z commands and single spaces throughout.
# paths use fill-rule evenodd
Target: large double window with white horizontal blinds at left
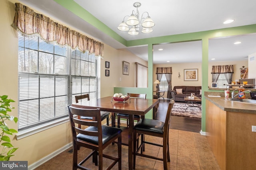
M 97 68 L 94 55 L 19 35 L 18 130 L 67 117 L 74 95 L 97 98 Z

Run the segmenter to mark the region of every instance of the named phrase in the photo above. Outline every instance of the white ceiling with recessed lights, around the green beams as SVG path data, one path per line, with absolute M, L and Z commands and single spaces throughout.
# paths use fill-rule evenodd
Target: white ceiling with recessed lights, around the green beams
M 66 0 L 72 1 L 72 0 Z M 124 16 L 132 14 L 135 0 L 74 0 L 93 16 L 126 40 L 144 39 L 180 33 L 190 33 L 256 24 L 256 0 L 139 0 L 140 15 L 148 12 L 156 23 L 149 34 L 128 35 L 117 29 Z M 116 49 L 126 48 L 109 35 L 72 14 L 54 0 L 20 0 L 24 5 L 48 14 L 53 20 L 60 20 L 67 25 L 90 35 Z M 234 19 L 230 24 L 225 20 Z M 234 45 L 241 41 L 240 45 Z M 158 51 L 158 48 L 164 49 Z M 147 60 L 147 47 L 129 47 L 132 53 Z M 182 63 L 202 61 L 201 41 L 154 45 L 154 63 Z M 209 61 L 247 60 L 246 56 L 256 52 L 256 35 L 211 39 L 209 41 Z

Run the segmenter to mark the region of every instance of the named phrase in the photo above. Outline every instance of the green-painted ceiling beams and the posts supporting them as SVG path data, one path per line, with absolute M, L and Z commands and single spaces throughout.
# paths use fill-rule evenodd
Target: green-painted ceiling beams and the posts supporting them
M 108 34 L 110 37 L 116 39 L 120 43 L 126 45 L 127 47 L 137 46 L 137 45 L 148 45 L 148 87 L 145 89 L 147 94 L 152 94 L 153 92 L 153 45 L 159 43 L 176 43 L 182 41 L 195 41 L 202 40 L 202 91 L 208 91 L 208 39 L 214 37 L 226 37 L 232 35 L 242 35 L 248 33 L 256 33 L 256 24 L 246 25 L 240 27 L 231 27 L 225 29 L 216 29 L 210 31 L 201 31 L 195 33 L 184 33 L 177 35 L 168 35 L 163 37 L 154 37 L 147 39 L 139 39 L 126 41 L 120 35 L 115 33 L 105 24 L 101 23 L 97 18 L 92 16 L 86 10 L 81 8 L 73 0 L 55 0 L 58 4 L 62 5 L 64 8 L 70 10 L 83 20 L 92 24 L 102 32 Z M 202 131 L 205 131 L 205 99 L 202 98 Z

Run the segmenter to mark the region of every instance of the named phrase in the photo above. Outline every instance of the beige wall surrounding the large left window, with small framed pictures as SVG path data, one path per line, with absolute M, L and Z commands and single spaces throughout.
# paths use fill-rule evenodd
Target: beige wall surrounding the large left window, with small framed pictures
M 11 27 L 15 2 L 18 1 L 0 1 L 0 96 L 8 95 L 16 101 L 12 104 L 15 107 L 12 115 L 18 117 L 18 33 Z M 54 20 L 54 18 L 51 19 Z M 62 24 L 60 21 L 57 22 Z M 109 77 L 105 76 L 105 61 L 110 62 Z M 129 76 L 122 75 L 122 61 L 130 63 Z M 116 50 L 105 45 L 104 59 L 101 59 L 100 66 L 102 97 L 112 96 L 114 86 L 134 86 L 134 61 L 147 65 L 147 62 L 127 50 Z M 122 81 L 119 81 L 120 77 Z M 18 129 L 17 124 L 7 123 L 10 128 Z M 20 140 L 16 140 L 13 136 L 11 140 L 14 147 L 19 148 L 14 152 L 16 155 L 11 160 L 27 160 L 30 165 L 72 142 L 70 124 L 63 123 Z

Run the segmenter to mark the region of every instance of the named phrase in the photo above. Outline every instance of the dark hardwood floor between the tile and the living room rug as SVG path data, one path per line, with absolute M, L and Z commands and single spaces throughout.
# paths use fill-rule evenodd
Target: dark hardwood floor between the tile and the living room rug
M 170 99 L 161 100 L 156 114 L 156 119 L 159 121 L 165 121 L 166 111 Z M 170 129 L 177 129 L 182 131 L 200 132 L 201 119 L 193 117 L 180 117 L 171 116 Z

